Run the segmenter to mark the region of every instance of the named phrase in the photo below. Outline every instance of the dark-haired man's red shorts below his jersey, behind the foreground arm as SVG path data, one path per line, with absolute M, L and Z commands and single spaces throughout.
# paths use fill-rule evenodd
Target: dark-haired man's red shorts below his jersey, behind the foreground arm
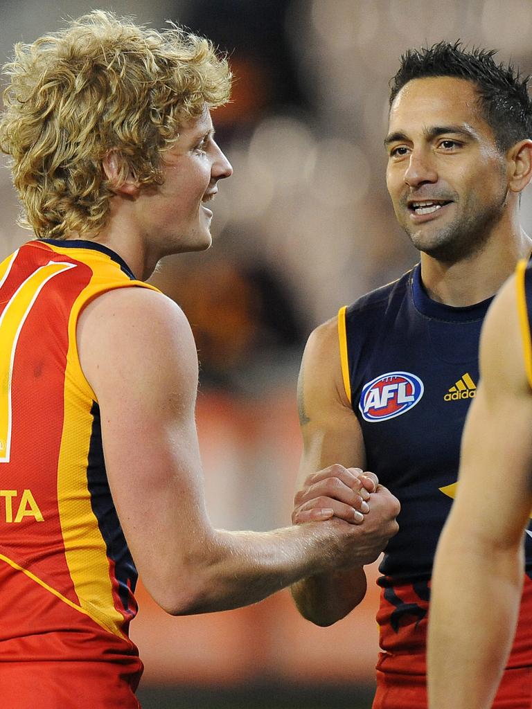
M 506 669 L 493 709 L 531 707 L 532 668 Z M 427 709 L 425 676 L 377 671 L 377 692 L 372 709 Z

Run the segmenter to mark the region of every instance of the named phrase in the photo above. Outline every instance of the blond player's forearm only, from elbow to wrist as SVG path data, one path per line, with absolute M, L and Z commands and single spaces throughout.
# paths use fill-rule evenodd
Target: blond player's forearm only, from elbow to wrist
M 345 539 L 334 544 L 338 525 L 345 525 Z M 355 563 L 358 533 L 338 520 L 272 532 L 215 530 L 180 557 L 165 579 L 157 580 L 156 600 L 172 615 L 256 603 L 306 576 L 331 572 L 346 559 Z

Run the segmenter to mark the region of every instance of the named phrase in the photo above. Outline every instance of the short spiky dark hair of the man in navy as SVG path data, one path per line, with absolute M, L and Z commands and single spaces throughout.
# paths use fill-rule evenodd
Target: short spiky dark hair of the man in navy
M 519 140 L 532 138 L 532 101 L 528 80 L 511 64 L 497 64 L 497 50 L 472 48 L 462 42 L 438 42 L 432 47 L 409 49 L 399 71 L 390 80 L 389 105 L 412 79 L 456 77 L 475 84 L 479 108 L 493 130 L 497 147 L 506 152 Z

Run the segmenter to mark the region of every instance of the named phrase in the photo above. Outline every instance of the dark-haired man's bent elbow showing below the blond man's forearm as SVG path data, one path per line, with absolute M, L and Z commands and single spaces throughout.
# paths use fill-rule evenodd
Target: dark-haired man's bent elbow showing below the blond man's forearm
M 349 571 L 317 574 L 292 584 L 299 613 L 316 625 L 326 626 L 345 618 L 366 593 L 362 567 Z

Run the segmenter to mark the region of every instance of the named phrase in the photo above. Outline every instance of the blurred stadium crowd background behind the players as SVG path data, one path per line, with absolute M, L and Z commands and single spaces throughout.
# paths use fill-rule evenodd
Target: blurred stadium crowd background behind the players
M 155 28 L 170 19 L 228 52 L 233 101 L 214 112 L 234 175 L 214 202 L 214 246 L 170 257 L 153 282 L 192 324 L 198 425 L 214 524 L 289 523 L 301 444 L 299 359 L 312 328 L 399 277 L 417 255 L 384 184 L 388 82 L 411 46 L 462 39 L 532 70 L 530 0 L 0 0 L 0 57 L 94 8 Z M 3 164 L 5 160 L 2 158 Z M 0 170 L 0 257 L 28 232 Z M 525 194 L 523 224 L 532 229 Z M 335 627 L 299 618 L 287 592 L 170 618 L 140 585 L 131 635 L 139 697 L 157 707 L 370 707 L 376 567 L 367 598 Z

